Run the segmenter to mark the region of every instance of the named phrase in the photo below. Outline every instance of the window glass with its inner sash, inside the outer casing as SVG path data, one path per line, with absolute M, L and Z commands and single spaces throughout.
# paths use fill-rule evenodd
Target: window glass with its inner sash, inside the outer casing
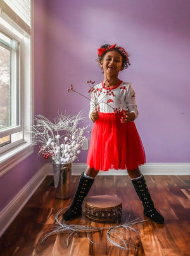
M 19 46 L 20 42 L 0 31 L 0 152 L 20 136 Z

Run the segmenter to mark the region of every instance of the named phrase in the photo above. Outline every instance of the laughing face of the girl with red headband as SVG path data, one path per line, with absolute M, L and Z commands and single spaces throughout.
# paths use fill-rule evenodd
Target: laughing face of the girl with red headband
M 104 74 L 109 74 L 110 76 L 118 76 L 118 72 L 124 69 L 122 66 L 122 56 L 117 51 L 108 51 L 99 65 L 103 69 Z

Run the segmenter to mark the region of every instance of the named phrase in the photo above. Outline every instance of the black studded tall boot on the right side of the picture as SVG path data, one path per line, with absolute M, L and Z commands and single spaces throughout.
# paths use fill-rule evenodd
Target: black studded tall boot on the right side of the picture
M 132 184 L 136 189 L 139 199 L 143 202 L 144 215 L 156 223 L 160 223 L 160 224 L 163 223 L 164 219 L 162 215 L 158 213 L 155 209 L 155 206 L 149 194 L 144 176 L 142 175 L 140 179 L 132 180 Z

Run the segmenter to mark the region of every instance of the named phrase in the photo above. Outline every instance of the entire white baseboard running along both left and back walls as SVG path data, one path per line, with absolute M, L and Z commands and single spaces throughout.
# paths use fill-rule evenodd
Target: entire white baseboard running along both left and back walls
M 80 175 L 85 171 L 87 165 L 75 163 L 72 165 L 72 175 Z M 185 164 L 145 164 L 140 167 L 144 175 L 190 175 L 190 163 Z M 53 175 L 53 166 L 47 163 L 42 166 L 34 177 L 23 187 L 23 189 L 11 200 L 11 202 L 0 213 L 0 237 L 9 227 L 16 215 L 22 210 L 28 199 L 34 194 L 36 189 L 46 178 L 47 175 Z M 126 170 L 109 170 L 108 172 L 99 172 L 98 175 L 128 175 Z

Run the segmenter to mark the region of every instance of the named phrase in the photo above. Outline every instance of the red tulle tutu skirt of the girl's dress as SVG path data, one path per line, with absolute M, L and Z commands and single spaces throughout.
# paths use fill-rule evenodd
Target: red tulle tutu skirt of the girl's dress
M 146 161 L 134 122 L 122 124 L 122 113 L 101 113 L 92 128 L 87 165 L 95 170 L 134 170 Z

